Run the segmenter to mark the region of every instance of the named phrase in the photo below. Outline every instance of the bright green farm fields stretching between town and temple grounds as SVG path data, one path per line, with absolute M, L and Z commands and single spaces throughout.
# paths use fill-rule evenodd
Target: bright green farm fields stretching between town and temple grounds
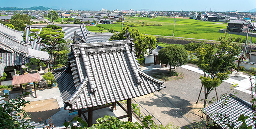
M 125 17 L 125 21 L 128 22 L 146 22 L 150 24 L 160 24 L 161 26 L 136 26 L 130 28 L 138 28 L 140 32 L 151 35 L 163 35 L 163 36 L 173 36 L 173 17 L 157 17 L 157 18 L 147 18 L 147 17 Z M 103 27 L 105 29 L 114 29 L 116 32 L 121 31 L 120 24 L 99 24 L 97 27 Z M 184 38 L 196 38 L 196 39 L 209 39 L 218 40 L 220 35 L 219 29 L 226 29 L 227 23 L 223 22 L 210 22 L 210 21 L 197 21 L 188 18 L 175 18 L 175 37 Z M 246 38 L 246 36 L 234 35 L 232 36 Z M 253 42 L 256 38 L 253 37 Z

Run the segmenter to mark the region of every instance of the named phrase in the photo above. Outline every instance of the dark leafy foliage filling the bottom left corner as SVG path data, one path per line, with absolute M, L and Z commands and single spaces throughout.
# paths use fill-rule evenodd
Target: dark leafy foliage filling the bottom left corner
M 8 95 L 1 95 L 8 97 Z M 0 104 L 0 127 L 1 129 L 28 129 L 33 128 L 29 125 L 29 115 L 21 107 L 29 104 L 17 96 L 14 99 L 9 99 L 6 103 Z

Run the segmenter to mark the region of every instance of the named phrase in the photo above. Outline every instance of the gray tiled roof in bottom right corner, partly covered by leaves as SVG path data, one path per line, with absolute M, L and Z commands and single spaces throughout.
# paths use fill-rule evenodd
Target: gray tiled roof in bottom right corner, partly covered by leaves
M 218 125 L 222 128 L 227 128 L 223 122 L 219 121 L 219 118 L 216 117 L 216 113 L 227 115 L 229 116 L 230 120 L 235 122 L 235 128 L 239 128 L 242 122 L 237 122 L 237 119 L 240 115 L 244 114 L 244 116 L 249 116 L 246 119 L 246 124 L 254 125 L 253 124 L 253 114 L 252 114 L 252 105 L 249 102 L 246 102 L 240 98 L 232 97 L 232 95 L 228 95 L 229 99 L 227 99 L 226 104 L 224 104 L 224 99 L 214 102 L 213 104 L 209 105 L 208 107 L 203 109 L 203 112 L 210 116 L 210 118 L 215 121 Z M 212 114 L 212 115 L 210 115 Z M 223 124 L 223 125 L 222 125 Z M 254 129 L 254 128 L 253 128 Z

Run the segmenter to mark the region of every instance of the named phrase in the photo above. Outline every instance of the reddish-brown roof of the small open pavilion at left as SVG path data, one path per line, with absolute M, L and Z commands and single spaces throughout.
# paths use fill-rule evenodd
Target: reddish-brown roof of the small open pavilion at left
M 28 73 L 20 76 L 13 76 L 12 85 L 19 85 L 25 83 L 33 83 L 36 81 L 41 81 L 41 77 L 39 73 Z

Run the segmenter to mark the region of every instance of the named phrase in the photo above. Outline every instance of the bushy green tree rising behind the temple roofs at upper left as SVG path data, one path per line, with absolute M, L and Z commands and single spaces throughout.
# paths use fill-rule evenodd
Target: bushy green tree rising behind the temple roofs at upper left
M 26 24 L 31 25 L 30 19 L 27 14 L 15 14 L 10 19 L 10 24 L 18 31 L 25 31 Z

